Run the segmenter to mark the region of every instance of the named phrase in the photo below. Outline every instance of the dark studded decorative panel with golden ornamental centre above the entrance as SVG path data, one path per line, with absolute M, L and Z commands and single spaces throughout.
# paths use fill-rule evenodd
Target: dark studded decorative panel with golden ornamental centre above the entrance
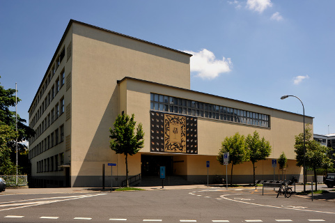
M 151 111 L 150 151 L 197 154 L 197 117 Z

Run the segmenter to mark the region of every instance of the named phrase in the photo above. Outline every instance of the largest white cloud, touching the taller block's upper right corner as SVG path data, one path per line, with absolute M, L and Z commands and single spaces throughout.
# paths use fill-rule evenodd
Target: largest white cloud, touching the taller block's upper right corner
M 196 72 L 196 77 L 202 79 L 214 79 L 223 72 L 231 71 L 231 66 L 233 66 L 230 58 L 218 60 L 208 49 L 202 49 L 200 52 L 184 52 L 193 55 L 191 57 L 191 72 Z

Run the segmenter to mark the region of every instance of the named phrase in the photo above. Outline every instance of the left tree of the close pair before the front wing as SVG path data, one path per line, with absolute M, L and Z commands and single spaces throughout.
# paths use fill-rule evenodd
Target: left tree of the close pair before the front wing
M 231 185 L 233 184 L 233 167 L 248 161 L 244 135 L 236 132 L 232 137 L 226 137 L 221 143 L 221 150 L 217 160 L 221 165 L 224 164 L 224 153 L 229 153 L 229 162 L 231 163 Z

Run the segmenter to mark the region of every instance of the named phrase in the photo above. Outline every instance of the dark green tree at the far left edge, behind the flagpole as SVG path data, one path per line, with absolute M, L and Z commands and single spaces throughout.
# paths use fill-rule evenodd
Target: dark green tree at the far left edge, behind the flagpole
M 1 78 L 1 77 L 0 77 Z M 24 144 L 20 144 L 22 141 L 28 140 L 35 134 L 35 131 L 29 126 L 26 126 L 26 120 L 20 118 L 17 115 L 17 134 L 13 137 L 13 131 L 16 130 L 15 112 L 10 111 L 11 107 L 15 107 L 15 89 L 4 89 L 0 85 L 0 125 L 1 125 L 1 137 L 7 136 L 6 140 L 1 140 L 1 153 L 0 153 L 0 174 L 16 174 L 16 138 L 19 142 L 17 144 L 18 160 L 19 164 L 29 164 L 29 157 L 26 155 L 27 147 Z M 17 98 L 17 102 L 20 102 L 20 98 Z M 11 136 L 11 137 L 8 137 Z M 5 146 L 6 144 L 6 146 Z M 14 167 L 13 167 L 14 166 Z M 20 169 L 20 167 L 18 167 Z M 15 171 L 14 171 L 15 170 Z M 26 174 L 30 173 L 29 169 L 25 167 L 22 169 Z

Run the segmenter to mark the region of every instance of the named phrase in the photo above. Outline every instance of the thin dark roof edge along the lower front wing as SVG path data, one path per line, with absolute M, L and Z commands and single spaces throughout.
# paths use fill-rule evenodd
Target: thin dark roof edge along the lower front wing
M 244 102 L 242 100 L 236 100 L 236 99 L 232 99 L 232 98 L 226 98 L 226 97 L 222 97 L 222 96 L 218 96 L 218 95 L 212 95 L 210 93 L 203 93 L 203 92 L 200 92 L 200 91 L 194 91 L 194 90 L 190 90 L 190 89 L 182 89 L 182 88 L 180 88 L 178 86 L 171 86 L 171 85 L 167 85 L 167 84 L 160 84 L 160 83 L 157 83 L 157 82 L 150 82 L 150 81 L 146 81 L 146 80 L 143 80 L 143 79 L 137 79 L 137 78 L 134 78 L 134 77 L 123 77 L 123 79 L 118 80 L 118 83 L 123 82 L 126 79 L 131 79 L 131 80 L 135 80 L 135 81 L 139 81 L 139 82 L 146 82 L 146 83 L 150 83 L 150 84 L 157 84 L 157 85 L 160 85 L 160 86 L 166 86 L 166 87 L 173 88 L 173 89 L 180 89 L 180 90 L 189 91 L 189 92 L 192 92 L 192 93 L 200 93 L 200 94 L 203 94 L 203 95 L 208 95 L 208 96 L 212 96 L 212 97 L 216 97 L 216 98 L 221 98 L 221 99 L 233 100 L 235 102 L 242 102 L 242 103 L 248 104 L 248 105 L 256 105 L 258 107 L 263 107 L 263 108 L 267 108 L 267 109 L 273 109 L 273 110 L 280 111 L 280 112 L 287 112 L 287 111 L 284 111 L 284 110 L 281 110 L 281 109 L 274 109 L 272 107 L 266 107 L 266 106 L 263 106 L 263 105 L 257 105 L 257 104 L 250 103 L 250 102 Z M 297 114 L 295 112 L 287 112 L 287 113 L 296 114 L 296 115 L 302 116 L 302 114 Z M 312 116 L 306 116 L 306 117 L 314 118 Z

